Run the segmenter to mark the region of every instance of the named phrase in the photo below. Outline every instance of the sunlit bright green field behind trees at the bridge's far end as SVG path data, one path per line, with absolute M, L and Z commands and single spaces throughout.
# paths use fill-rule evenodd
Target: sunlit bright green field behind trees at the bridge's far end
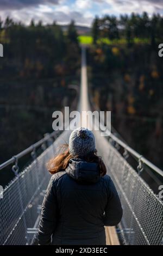
M 93 38 L 91 35 L 79 35 L 78 40 L 80 44 L 87 44 L 90 45 L 93 43 Z M 134 44 L 148 44 L 149 39 L 147 38 L 134 38 Z M 113 44 L 127 44 L 127 40 L 122 38 L 122 39 L 115 39 L 115 40 L 110 40 L 108 38 L 101 38 L 97 40 L 97 44 L 107 44 L 107 45 L 113 45 Z

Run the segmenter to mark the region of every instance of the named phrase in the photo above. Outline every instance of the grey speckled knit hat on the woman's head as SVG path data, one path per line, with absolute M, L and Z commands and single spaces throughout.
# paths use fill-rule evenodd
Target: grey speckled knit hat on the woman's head
M 73 130 L 69 139 L 69 151 L 72 156 L 86 156 L 96 151 L 95 136 L 83 127 Z

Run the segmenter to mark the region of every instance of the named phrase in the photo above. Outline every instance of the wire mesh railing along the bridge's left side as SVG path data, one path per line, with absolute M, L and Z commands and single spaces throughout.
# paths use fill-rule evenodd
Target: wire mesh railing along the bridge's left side
M 46 162 L 57 154 L 60 143 L 67 142 L 69 131 L 63 132 L 54 143 L 35 158 L 4 188 L 0 199 L 0 245 L 26 245 L 32 241 L 40 216 L 50 174 Z

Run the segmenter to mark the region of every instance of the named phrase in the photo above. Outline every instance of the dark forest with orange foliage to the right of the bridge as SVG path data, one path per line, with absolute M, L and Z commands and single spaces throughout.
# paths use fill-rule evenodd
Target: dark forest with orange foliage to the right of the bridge
M 131 147 L 160 168 L 163 42 L 160 15 L 105 16 L 92 25 L 89 48 L 90 93 L 103 111 L 111 111 L 112 126 Z

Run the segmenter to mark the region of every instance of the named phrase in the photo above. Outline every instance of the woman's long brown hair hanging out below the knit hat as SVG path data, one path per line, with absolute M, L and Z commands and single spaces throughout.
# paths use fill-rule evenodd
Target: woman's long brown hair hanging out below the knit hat
M 51 174 L 58 173 L 61 170 L 66 169 L 70 159 L 74 158 L 74 156 L 70 154 L 67 144 L 62 145 L 62 149 L 65 149 L 64 152 L 53 157 L 47 163 L 47 169 Z M 97 156 L 97 151 L 94 154 L 90 154 L 90 155 L 87 155 L 86 157 L 83 157 L 83 160 L 85 160 L 86 162 L 98 163 L 101 176 L 104 176 L 106 174 L 105 164 L 102 161 L 101 156 Z

